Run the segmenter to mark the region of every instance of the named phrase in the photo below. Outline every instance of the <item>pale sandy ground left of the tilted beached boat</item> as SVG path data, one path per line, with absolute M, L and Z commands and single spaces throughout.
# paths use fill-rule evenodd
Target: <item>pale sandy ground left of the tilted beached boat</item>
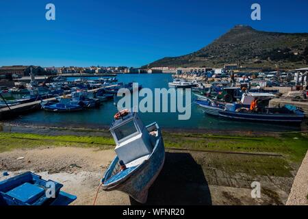
M 114 156 L 112 150 L 70 147 L 27 149 L 1 153 L 0 166 L 1 169 L 12 171 L 8 177 L 30 170 L 43 179 L 60 182 L 64 185 L 64 192 L 77 196 L 73 205 L 91 205 L 101 177 Z M 25 158 L 17 159 L 18 157 Z M 0 180 L 8 177 L 1 176 Z M 121 192 L 101 191 L 97 200 L 97 205 L 121 204 L 129 204 L 129 197 Z

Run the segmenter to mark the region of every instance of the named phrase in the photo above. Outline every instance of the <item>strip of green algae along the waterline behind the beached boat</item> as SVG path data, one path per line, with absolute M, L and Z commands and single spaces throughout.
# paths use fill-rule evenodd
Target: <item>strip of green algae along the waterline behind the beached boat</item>
M 163 137 L 167 149 L 279 153 L 293 162 L 300 162 L 308 150 L 307 133 L 281 133 L 277 136 L 250 137 L 164 132 Z M 0 132 L 0 141 L 0 152 L 38 146 L 97 146 L 100 149 L 112 149 L 115 145 L 110 135 L 78 136 L 78 132 L 76 135 L 61 136 Z

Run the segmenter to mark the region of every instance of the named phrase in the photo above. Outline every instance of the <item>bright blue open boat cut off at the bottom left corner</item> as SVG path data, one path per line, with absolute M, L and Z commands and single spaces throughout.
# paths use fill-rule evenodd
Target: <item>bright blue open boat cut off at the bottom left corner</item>
M 54 195 L 49 189 L 54 188 Z M 0 205 L 68 205 L 77 198 L 61 191 L 62 184 L 44 180 L 32 172 L 0 182 Z

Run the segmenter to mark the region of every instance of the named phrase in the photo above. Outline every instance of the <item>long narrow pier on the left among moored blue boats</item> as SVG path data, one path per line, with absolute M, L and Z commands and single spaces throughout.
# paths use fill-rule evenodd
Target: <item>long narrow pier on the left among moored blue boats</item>
M 110 85 L 110 86 L 104 86 L 104 87 L 101 87 L 101 88 L 95 88 L 95 89 L 92 89 L 92 90 L 88 90 L 88 92 L 97 92 L 100 89 L 112 88 L 114 86 L 116 86 L 116 85 Z M 68 94 L 66 96 L 70 96 L 70 94 Z M 60 97 L 63 97 L 63 96 L 60 96 Z M 40 108 L 40 103 L 42 101 L 55 101 L 55 97 L 40 100 L 40 101 L 34 101 L 34 102 L 30 102 L 30 103 L 22 103 L 22 104 L 13 105 L 13 106 L 10 106 L 10 107 L 1 108 L 0 109 L 0 120 L 2 120 L 5 117 L 7 118 L 7 117 L 11 117 L 11 116 L 17 116 L 19 114 L 38 110 Z

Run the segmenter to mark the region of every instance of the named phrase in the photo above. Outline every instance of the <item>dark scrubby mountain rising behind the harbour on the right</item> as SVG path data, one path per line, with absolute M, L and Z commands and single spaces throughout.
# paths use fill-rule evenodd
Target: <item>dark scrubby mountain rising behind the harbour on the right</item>
M 307 66 L 308 33 L 276 33 L 236 25 L 194 53 L 164 57 L 143 67 L 222 67 L 224 64 L 258 68 Z

